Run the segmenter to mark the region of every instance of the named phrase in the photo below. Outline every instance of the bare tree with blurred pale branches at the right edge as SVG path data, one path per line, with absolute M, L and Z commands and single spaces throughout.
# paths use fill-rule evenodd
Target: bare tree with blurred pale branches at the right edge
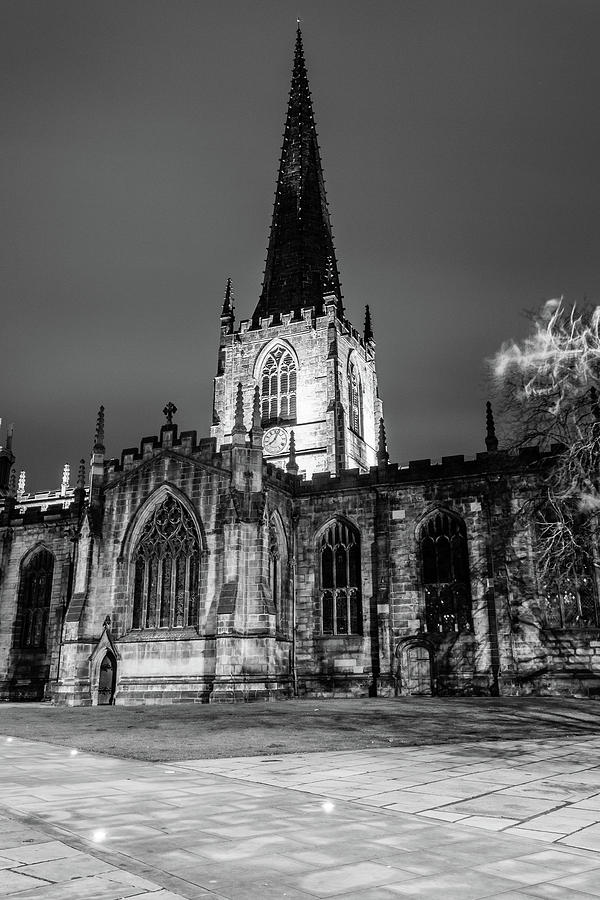
M 547 597 L 585 621 L 595 616 L 598 568 L 600 307 L 550 300 L 531 319 L 531 334 L 504 344 L 492 360 L 496 393 L 513 448 L 550 451 L 522 513 L 536 523 Z

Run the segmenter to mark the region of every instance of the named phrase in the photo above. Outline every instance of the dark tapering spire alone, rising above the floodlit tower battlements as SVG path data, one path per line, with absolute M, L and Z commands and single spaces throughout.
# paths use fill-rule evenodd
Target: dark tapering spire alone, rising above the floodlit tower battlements
M 253 321 L 283 312 L 298 316 L 304 306 L 320 313 L 324 287 L 333 294 L 341 316 L 340 279 L 298 23 L 273 222 Z

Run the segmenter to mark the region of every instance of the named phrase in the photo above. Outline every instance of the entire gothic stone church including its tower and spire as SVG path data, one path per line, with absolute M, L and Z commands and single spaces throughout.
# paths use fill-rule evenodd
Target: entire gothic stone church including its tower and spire
M 515 515 L 550 464 L 498 448 L 389 462 L 367 307 L 346 318 L 300 31 L 265 277 L 228 282 L 210 437 L 108 458 L 75 488 L 15 484 L 0 450 L 0 698 L 219 702 L 593 695 L 593 579 L 543 586 Z

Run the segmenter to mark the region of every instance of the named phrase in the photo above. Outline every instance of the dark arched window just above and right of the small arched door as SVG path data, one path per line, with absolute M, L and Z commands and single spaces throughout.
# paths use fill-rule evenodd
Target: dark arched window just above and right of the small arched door
M 421 525 L 418 540 L 427 630 L 472 631 L 465 523 L 449 513 L 437 512 Z

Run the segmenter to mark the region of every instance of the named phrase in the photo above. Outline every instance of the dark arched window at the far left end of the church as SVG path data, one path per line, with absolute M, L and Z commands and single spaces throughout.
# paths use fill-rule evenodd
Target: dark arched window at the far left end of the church
M 15 647 L 45 649 L 53 574 L 54 556 L 45 548 L 37 550 L 22 566 Z

